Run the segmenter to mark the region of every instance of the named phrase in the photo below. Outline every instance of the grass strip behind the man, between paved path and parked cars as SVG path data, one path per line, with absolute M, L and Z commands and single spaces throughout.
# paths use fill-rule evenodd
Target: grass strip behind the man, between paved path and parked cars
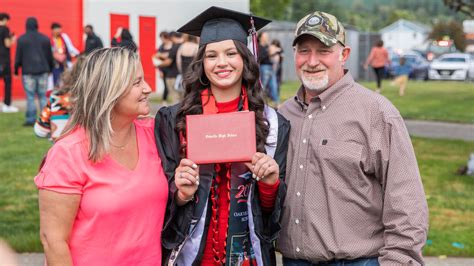
M 382 94 L 405 119 L 474 123 L 474 83 L 410 80 L 403 97 L 398 96 L 398 88 L 389 83 L 389 80 L 383 81 Z M 282 99 L 293 96 L 299 84 L 283 84 Z M 362 85 L 375 89 L 375 82 L 362 82 Z

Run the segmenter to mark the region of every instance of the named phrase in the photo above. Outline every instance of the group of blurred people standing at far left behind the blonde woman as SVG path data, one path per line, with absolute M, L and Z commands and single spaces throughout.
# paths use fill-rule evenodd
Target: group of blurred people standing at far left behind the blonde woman
M 13 73 L 18 76 L 21 69 L 21 80 L 27 100 L 24 125 L 33 126 L 38 121 L 39 124 L 46 126 L 41 117 L 37 118 L 38 107 L 41 114 L 49 113 L 49 109 L 58 103 L 58 95 L 61 95 L 61 104 L 67 105 L 67 94 L 54 93 L 56 90 L 64 92 L 64 87 L 71 87 L 71 84 L 61 82 L 68 79 L 66 77 L 62 78 L 62 76 L 65 71 L 67 72 L 73 67 L 73 63 L 77 61 L 81 54 L 87 55 L 95 49 L 102 48 L 102 41 L 94 34 L 93 27 L 87 25 L 84 28 L 87 36 L 85 50 L 81 53 L 74 46 L 69 36 L 63 32 L 61 24 L 53 22 L 51 24 L 51 36 L 48 37 L 38 32 L 39 23 L 35 17 L 27 18 L 25 22 L 26 32 L 17 39 L 8 28 L 9 20 L 10 16 L 7 13 L 0 13 L 0 76 L 4 79 L 5 86 L 2 111 L 4 113 L 19 111 L 17 107 L 12 105 L 11 100 L 10 47 L 16 43 Z M 69 82 L 73 81 L 70 80 Z M 35 99 L 38 100 L 38 105 L 36 105 Z M 66 111 L 66 109 L 63 111 Z M 42 117 L 44 118 L 43 115 Z M 49 127 L 49 122 L 47 124 Z M 44 130 L 36 132 L 39 132 L 39 136 L 44 134 Z

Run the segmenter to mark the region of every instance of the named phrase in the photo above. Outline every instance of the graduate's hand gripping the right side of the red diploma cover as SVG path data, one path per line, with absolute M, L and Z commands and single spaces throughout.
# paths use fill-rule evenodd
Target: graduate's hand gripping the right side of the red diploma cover
M 265 153 L 255 153 L 252 162 L 245 165 L 252 171 L 253 178 L 268 185 L 275 184 L 280 176 L 280 167 L 277 162 Z

